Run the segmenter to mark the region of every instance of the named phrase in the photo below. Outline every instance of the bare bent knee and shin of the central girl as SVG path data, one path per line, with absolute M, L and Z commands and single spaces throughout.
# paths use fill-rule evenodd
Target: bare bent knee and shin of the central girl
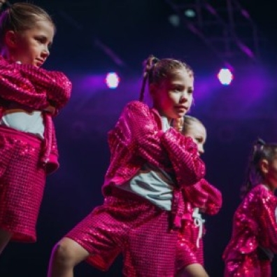
M 73 277 L 74 267 L 89 257 L 80 244 L 69 238 L 59 241 L 52 250 L 48 277 Z

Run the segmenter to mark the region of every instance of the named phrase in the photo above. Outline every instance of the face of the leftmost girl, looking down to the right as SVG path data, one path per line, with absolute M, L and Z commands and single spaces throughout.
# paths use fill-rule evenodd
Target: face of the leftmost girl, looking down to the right
M 22 64 L 32 64 L 40 67 L 50 55 L 49 48 L 52 45 L 55 34 L 54 26 L 46 20 L 38 20 L 34 28 L 18 33 L 10 31 L 9 41 L 10 59 Z

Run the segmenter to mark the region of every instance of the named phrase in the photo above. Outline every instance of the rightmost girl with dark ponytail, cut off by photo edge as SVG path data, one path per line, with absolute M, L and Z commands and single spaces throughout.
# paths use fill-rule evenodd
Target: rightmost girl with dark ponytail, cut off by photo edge
M 225 277 L 270 277 L 277 252 L 277 144 L 258 140 L 250 156 L 243 201 L 223 254 Z

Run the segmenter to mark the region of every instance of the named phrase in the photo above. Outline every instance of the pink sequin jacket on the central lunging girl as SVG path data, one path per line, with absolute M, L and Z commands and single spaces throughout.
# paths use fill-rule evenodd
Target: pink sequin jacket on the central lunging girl
M 140 101 L 125 107 L 115 128 L 108 133 L 111 164 L 106 172 L 102 191 L 111 193 L 111 185 L 130 180 L 149 162 L 176 176 L 173 192 L 173 225 L 180 227 L 184 211 L 181 187 L 194 185 L 205 175 L 205 165 L 197 154 L 192 139 L 173 128 L 162 131 L 162 120 L 154 108 Z

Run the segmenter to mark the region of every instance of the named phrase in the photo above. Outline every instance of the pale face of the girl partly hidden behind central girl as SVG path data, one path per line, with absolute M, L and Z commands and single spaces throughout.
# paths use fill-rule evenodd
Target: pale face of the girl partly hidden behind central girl
M 192 122 L 187 129 L 185 136 L 190 136 L 192 141 L 196 143 L 199 155 L 204 153 L 204 144 L 206 142 L 206 128 L 200 122 Z

